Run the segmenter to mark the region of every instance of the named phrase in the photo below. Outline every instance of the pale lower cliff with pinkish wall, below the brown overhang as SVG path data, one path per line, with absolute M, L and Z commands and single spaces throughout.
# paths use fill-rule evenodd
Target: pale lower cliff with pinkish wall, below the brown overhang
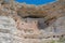
M 57 41 L 60 37 L 65 37 L 65 16 L 57 18 L 52 26 L 46 28 L 47 31 L 37 30 L 35 25 L 37 24 L 31 26 L 31 22 L 22 22 L 22 29 L 17 29 L 11 16 L 0 16 L 0 43 L 51 43 L 52 39 Z

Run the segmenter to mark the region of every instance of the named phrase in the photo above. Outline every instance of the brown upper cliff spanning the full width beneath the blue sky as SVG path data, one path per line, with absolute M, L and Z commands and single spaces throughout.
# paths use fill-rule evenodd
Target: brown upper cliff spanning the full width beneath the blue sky
M 46 23 L 54 22 L 57 17 L 65 16 L 65 1 L 57 0 L 54 3 L 46 4 L 46 5 L 30 5 L 16 3 L 12 1 L 9 3 L 4 3 L 5 1 L 0 1 L 0 15 L 9 15 L 16 17 L 42 17 L 46 19 Z M 8 12 L 9 11 L 9 12 Z

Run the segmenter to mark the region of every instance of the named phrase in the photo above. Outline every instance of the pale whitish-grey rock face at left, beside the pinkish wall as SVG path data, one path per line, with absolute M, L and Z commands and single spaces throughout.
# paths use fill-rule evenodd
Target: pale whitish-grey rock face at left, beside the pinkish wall
M 15 35 L 16 25 L 10 16 L 0 16 L 0 43 L 22 43 Z

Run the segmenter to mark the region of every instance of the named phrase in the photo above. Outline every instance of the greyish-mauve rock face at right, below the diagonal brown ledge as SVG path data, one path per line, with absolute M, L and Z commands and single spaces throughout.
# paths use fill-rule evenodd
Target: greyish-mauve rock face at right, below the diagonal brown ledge
M 51 26 L 44 29 L 53 32 L 52 35 L 65 37 L 65 16 L 57 18 Z

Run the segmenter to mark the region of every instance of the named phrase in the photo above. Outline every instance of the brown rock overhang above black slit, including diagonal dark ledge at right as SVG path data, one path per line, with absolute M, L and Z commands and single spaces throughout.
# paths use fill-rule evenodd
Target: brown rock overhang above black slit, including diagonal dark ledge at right
M 47 25 L 51 25 L 56 18 L 65 16 L 65 1 L 57 0 L 54 3 L 46 5 L 29 5 L 22 4 L 17 10 L 17 15 L 21 17 L 44 18 Z M 35 16 L 35 17 L 34 17 Z

